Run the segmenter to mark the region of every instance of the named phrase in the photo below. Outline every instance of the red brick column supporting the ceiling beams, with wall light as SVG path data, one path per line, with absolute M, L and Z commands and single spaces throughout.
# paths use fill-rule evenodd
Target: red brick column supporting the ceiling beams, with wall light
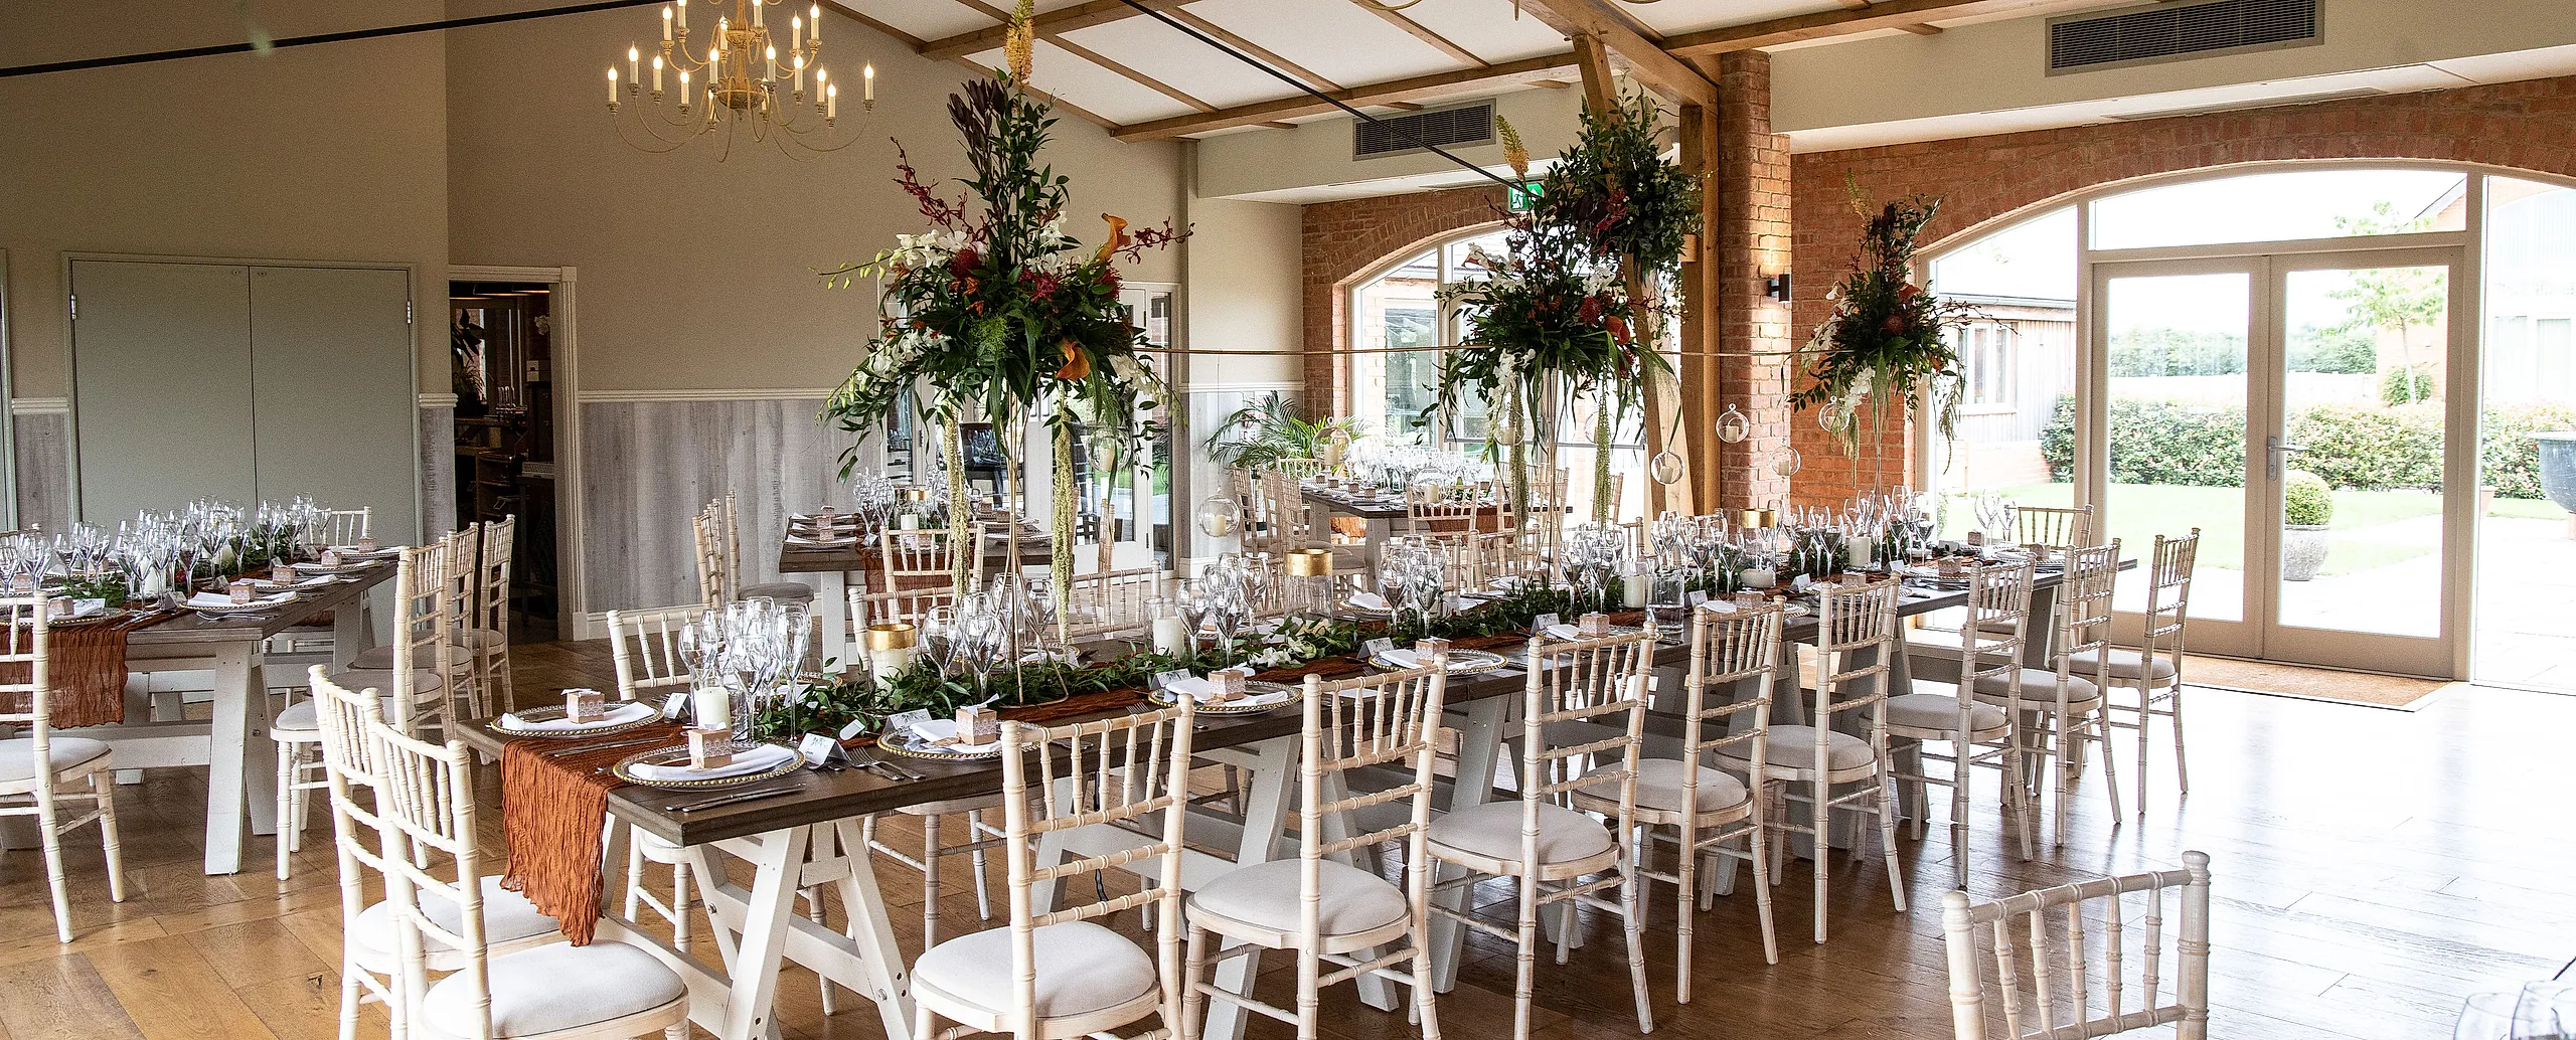
M 1716 443 L 1716 487 L 1700 510 L 1741 510 L 1777 505 L 1790 481 L 1772 471 L 1790 443 L 1788 384 L 1775 353 L 1790 348 L 1790 314 L 1765 293 L 1765 278 L 1790 263 L 1790 162 L 1788 139 L 1770 129 L 1770 54 L 1734 51 L 1718 57 L 1718 147 L 1710 170 L 1716 227 L 1710 250 L 1718 260 L 1718 404 L 1752 420 L 1752 438 L 1716 440 L 1716 430 L 1695 430 Z M 1824 286 L 1795 286 L 1798 296 Z M 1757 353 L 1762 358 L 1747 358 Z M 1705 484 L 1703 484 L 1705 487 Z

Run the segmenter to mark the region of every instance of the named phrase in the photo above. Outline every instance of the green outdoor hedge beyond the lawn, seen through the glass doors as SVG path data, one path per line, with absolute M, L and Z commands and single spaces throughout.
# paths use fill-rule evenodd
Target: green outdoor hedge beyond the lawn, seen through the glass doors
M 2058 396 L 2040 456 L 2056 479 L 2074 474 L 2074 396 Z M 2110 404 L 2115 484 L 2244 484 L 2244 407 L 2120 396 Z M 2535 430 L 2576 430 L 2576 407 L 2514 404 L 2486 409 L 2481 481 L 2506 499 L 2540 497 Z M 2354 492 L 2442 487 L 2442 404 L 2316 404 L 2290 414 L 2290 440 L 2308 445 L 2303 471 Z

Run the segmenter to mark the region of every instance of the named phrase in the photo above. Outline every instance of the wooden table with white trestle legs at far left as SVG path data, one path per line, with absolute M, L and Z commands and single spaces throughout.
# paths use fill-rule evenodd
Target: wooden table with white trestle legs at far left
M 330 667 L 374 646 L 366 595 L 394 577 L 394 561 L 345 574 L 350 582 L 301 590 L 296 602 L 255 618 L 211 620 L 180 613 L 126 633 L 129 672 L 214 672 L 214 718 L 142 718 L 129 703 L 126 723 L 75 731 L 108 741 L 118 770 L 206 767 L 206 873 L 242 870 L 245 834 L 276 834 L 278 775 L 268 741 L 268 638 L 330 613 Z M 301 685 L 294 680 L 289 685 Z M 245 826 L 247 824 L 247 826 Z

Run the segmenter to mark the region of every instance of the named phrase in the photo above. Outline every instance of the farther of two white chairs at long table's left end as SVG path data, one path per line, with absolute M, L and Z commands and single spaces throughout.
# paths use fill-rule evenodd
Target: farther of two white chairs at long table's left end
M 376 762 L 368 757 L 366 726 L 384 723 L 384 698 L 376 690 L 353 692 L 312 667 L 314 716 L 322 731 L 322 770 L 330 788 L 332 837 L 340 850 L 340 1040 L 358 1037 L 358 1007 L 368 999 L 386 1007 L 394 1035 L 404 1030 L 402 1004 L 402 952 L 394 940 L 394 906 L 368 904 L 368 880 L 384 878 L 384 821 L 376 819 L 374 798 L 366 803 L 355 788 L 376 785 Z M 482 878 L 484 942 L 495 952 L 541 947 L 562 937 L 559 922 L 536 909 L 526 896 L 500 886 L 500 878 Z M 430 904 L 430 914 L 446 914 L 453 929 L 456 916 L 448 904 Z M 428 950 L 425 970 L 459 970 L 464 958 L 453 950 Z

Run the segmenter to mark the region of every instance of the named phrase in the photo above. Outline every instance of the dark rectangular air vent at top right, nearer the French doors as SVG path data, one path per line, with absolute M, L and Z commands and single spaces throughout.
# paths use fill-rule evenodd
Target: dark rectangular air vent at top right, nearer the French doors
M 2048 21 L 2048 75 L 2313 46 L 2318 0 L 2159 3 Z

